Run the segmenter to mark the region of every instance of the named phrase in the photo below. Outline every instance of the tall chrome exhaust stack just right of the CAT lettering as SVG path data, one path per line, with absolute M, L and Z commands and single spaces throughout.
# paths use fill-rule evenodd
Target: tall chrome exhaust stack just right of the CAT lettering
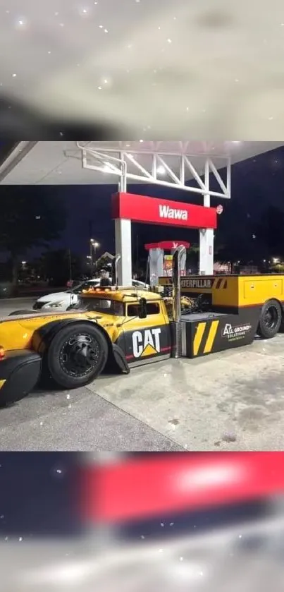
M 173 253 L 173 321 L 171 322 L 172 331 L 172 358 L 182 356 L 182 323 L 181 323 L 181 303 L 180 303 L 180 270 L 181 262 L 186 257 L 186 248 L 180 246 Z

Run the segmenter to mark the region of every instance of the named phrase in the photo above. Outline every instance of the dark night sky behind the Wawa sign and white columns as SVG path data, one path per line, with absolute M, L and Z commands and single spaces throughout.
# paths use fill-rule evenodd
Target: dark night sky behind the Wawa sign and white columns
M 223 175 L 221 175 L 223 176 Z M 212 188 L 218 189 L 212 183 Z M 284 147 L 267 152 L 264 155 L 235 164 L 232 169 L 232 200 L 223 200 L 224 212 L 229 208 L 240 208 L 244 216 L 258 217 L 261 210 L 268 204 L 284 207 Z M 5 191 L 13 191 L 9 186 Z M 101 248 L 98 252 L 109 250 L 114 253 L 114 223 L 111 220 L 111 194 L 117 191 L 117 186 L 27 186 L 29 193 L 35 192 L 40 200 L 41 195 L 55 193 L 63 198 L 68 209 L 68 223 L 60 241 L 53 243 L 51 248 L 70 248 L 74 253 L 87 255 L 89 252 L 90 230 L 92 222 L 92 238 L 98 241 Z M 168 198 L 202 204 L 202 198 L 195 194 L 185 193 L 172 188 L 159 186 L 128 185 L 128 191 L 151 195 L 153 197 Z M 221 200 L 212 199 L 212 205 L 218 205 Z M 144 243 L 159 240 L 188 240 L 197 243 L 197 231 L 171 229 L 166 226 L 151 226 L 148 224 L 132 224 L 133 242 Z M 30 255 L 39 254 L 33 251 Z

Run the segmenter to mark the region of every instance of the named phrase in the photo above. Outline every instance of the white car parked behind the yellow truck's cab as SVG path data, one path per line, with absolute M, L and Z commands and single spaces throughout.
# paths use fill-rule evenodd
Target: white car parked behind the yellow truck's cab
M 32 308 L 34 310 L 51 310 L 52 308 L 56 308 L 56 310 L 67 310 L 69 306 L 73 306 L 73 304 L 78 303 L 78 299 L 82 293 L 82 290 L 87 290 L 92 286 L 94 288 L 99 288 L 99 283 L 99 278 L 87 279 L 87 281 L 78 284 L 78 286 L 75 286 L 75 288 L 67 290 L 66 292 L 46 294 L 46 296 L 41 296 L 41 298 L 38 298 Z M 138 282 L 137 279 L 132 279 L 132 286 L 140 289 L 149 289 L 148 284 L 144 284 L 144 282 Z

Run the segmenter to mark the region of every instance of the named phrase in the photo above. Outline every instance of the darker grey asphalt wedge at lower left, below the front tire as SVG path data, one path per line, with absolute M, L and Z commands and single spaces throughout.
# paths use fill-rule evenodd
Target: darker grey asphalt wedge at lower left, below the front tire
M 181 450 L 89 389 L 34 392 L 0 410 L 1 451 Z

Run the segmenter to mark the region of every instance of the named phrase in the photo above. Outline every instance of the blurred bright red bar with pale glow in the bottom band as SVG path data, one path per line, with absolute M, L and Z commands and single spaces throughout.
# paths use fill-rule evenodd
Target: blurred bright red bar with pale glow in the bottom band
M 87 521 L 116 522 L 254 500 L 284 491 L 283 452 L 161 454 L 88 466 Z

